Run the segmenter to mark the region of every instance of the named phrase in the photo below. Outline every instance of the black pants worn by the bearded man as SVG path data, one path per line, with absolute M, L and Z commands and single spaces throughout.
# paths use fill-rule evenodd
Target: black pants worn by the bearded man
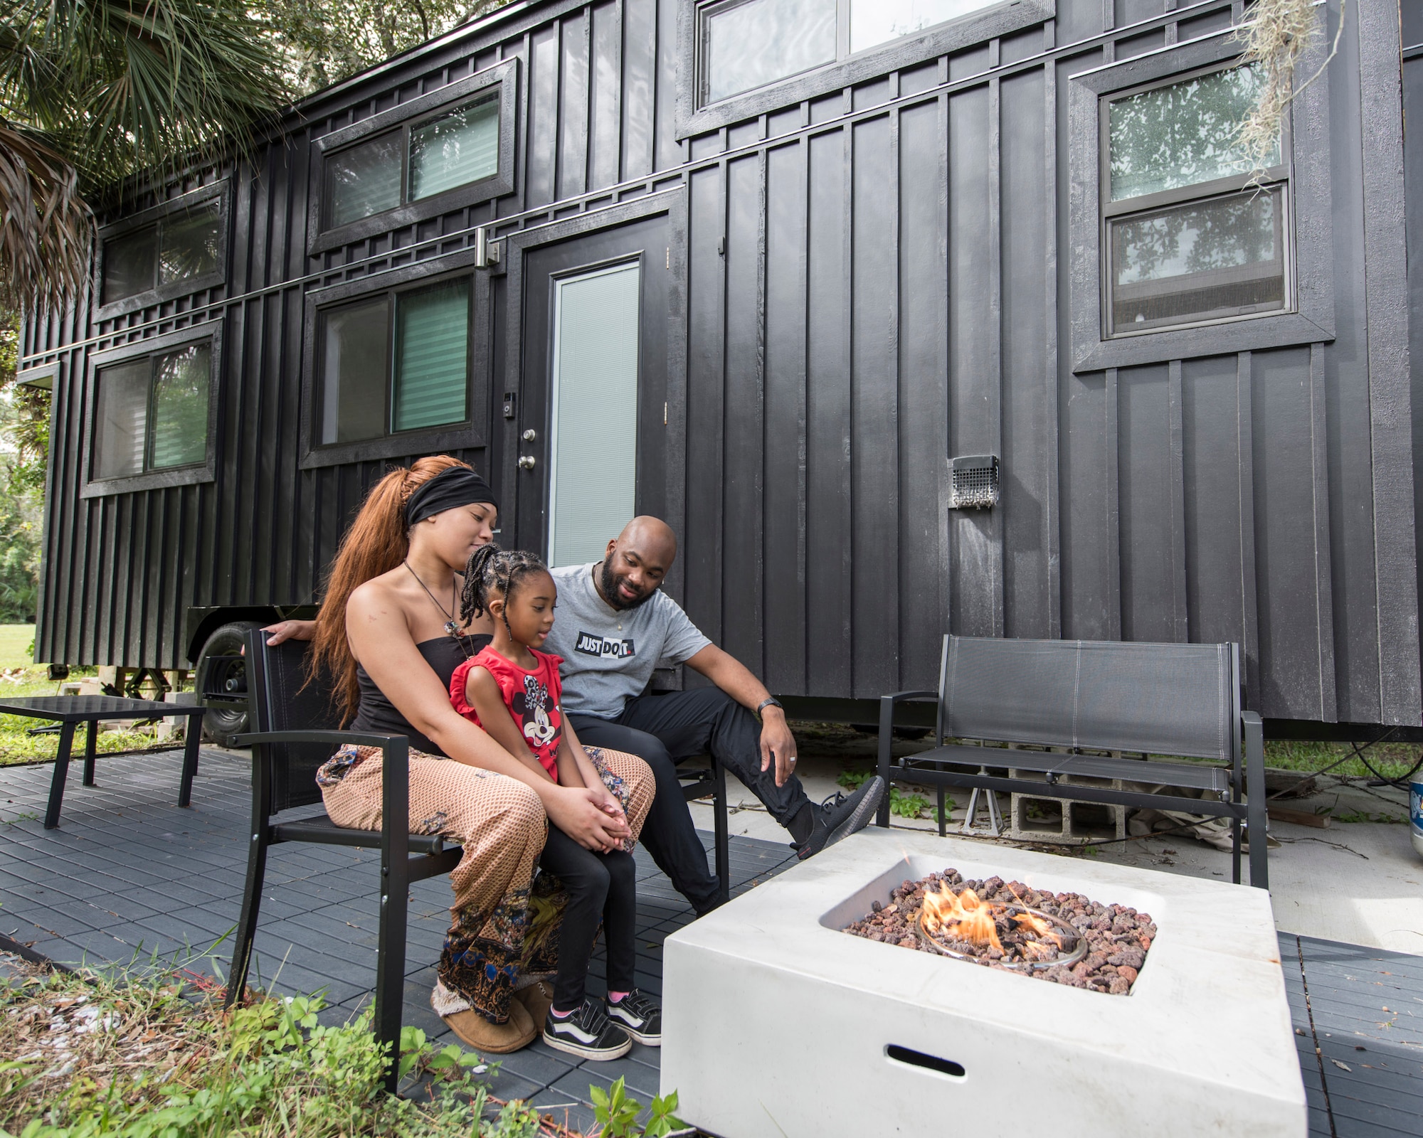
M 692 825 L 692 811 L 677 782 L 677 762 L 710 754 L 785 825 L 808 804 L 800 780 L 776 785 L 774 764 L 761 771 L 761 725 L 756 716 L 719 687 L 639 696 L 616 720 L 571 714 L 581 743 L 635 754 L 652 767 L 657 797 L 642 826 L 642 844 L 672 885 L 703 913 L 716 905 L 716 875 Z

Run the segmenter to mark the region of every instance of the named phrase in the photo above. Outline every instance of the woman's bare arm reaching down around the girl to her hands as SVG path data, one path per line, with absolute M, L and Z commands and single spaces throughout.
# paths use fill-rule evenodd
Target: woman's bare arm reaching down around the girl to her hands
M 400 605 L 376 582 L 366 582 L 347 600 L 346 636 L 376 687 L 450 758 L 524 782 L 554 825 L 586 849 L 610 849 L 630 835 L 626 822 L 619 825 L 602 811 L 601 798 L 534 774 L 455 711 L 448 690 L 416 647 Z

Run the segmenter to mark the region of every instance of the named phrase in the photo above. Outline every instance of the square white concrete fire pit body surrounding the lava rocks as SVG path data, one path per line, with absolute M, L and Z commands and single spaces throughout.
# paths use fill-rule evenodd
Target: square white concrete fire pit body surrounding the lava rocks
M 946 866 L 1130 905 L 1130 996 L 840 932 Z M 662 1090 L 721 1138 L 1306 1132 L 1261 889 L 871 828 L 667 937 Z

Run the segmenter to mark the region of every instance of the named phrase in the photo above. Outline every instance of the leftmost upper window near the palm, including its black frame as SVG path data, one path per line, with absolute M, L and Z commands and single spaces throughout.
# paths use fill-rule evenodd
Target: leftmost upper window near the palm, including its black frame
M 225 277 L 223 186 L 185 193 L 100 233 L 100 319 L 218 284 Z

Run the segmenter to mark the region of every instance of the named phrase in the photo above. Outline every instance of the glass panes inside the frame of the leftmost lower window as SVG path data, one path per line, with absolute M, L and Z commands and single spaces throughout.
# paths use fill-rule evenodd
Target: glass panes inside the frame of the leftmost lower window
M 206 459 L 211 344 L 100 368 L 95 385 L 92 478 L 194 467 Z

